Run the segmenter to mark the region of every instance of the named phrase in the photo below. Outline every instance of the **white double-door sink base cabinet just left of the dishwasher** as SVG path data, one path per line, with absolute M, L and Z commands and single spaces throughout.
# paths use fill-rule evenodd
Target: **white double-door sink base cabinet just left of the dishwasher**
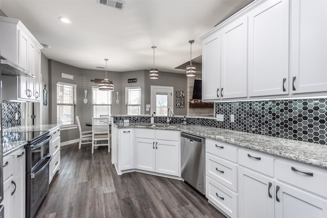
M 178 131 L 136 129 L 134 148 L 136 169 L 180 176 Z

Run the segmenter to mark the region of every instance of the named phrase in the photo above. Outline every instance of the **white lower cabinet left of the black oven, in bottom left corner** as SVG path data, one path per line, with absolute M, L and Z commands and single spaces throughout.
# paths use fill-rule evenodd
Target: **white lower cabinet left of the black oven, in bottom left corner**
M 25 149 L 4 157 L 5 217 L 25 217 Z

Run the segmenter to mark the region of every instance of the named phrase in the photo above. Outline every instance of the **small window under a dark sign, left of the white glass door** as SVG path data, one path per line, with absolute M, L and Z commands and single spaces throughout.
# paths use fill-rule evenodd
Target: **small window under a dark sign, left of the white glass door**
M 126 114 L 139 115 L 141 114 L 141 87 L 126 87 Z

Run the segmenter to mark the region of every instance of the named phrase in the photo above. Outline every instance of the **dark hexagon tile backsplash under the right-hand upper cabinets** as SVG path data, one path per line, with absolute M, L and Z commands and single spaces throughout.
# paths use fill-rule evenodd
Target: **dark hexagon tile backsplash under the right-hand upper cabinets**
M 327 144 L 326 107 L 327 99 L 216 102 L 215 114 L 224 114 L 219 128 Z

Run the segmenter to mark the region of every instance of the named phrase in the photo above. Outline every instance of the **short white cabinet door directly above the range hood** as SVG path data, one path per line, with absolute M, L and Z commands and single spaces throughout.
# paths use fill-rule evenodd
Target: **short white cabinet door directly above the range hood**
M 29 37 L 21 29 L 18 31 L 18 65 L 24 69 L 29 69 Z

